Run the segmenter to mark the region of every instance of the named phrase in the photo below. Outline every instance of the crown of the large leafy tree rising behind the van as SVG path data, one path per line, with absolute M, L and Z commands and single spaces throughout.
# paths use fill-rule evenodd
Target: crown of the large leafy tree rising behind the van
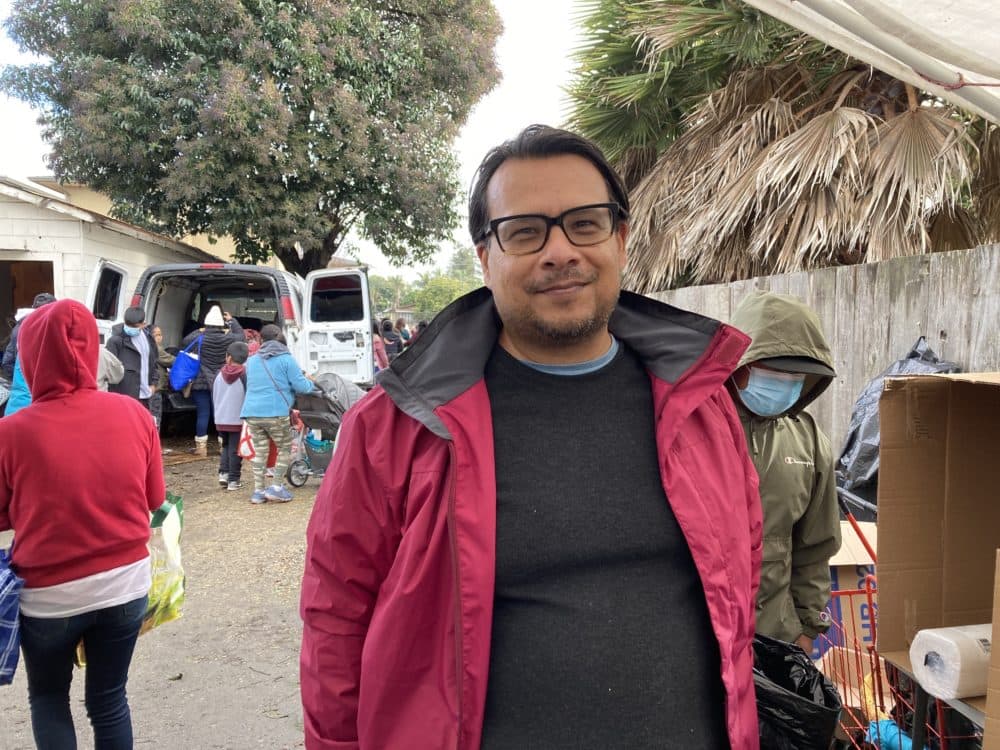
M 488 0 L 16 0 L 6 26 L 48 60 L 0 88 L 42 112 L 57 176 L 299 272 L 352 228 L 399 264 L 450 236 L 501 30 Z

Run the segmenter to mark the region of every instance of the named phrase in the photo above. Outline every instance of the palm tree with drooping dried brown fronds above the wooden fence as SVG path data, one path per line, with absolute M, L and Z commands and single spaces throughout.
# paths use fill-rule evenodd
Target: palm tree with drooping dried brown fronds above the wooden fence
M 584 11 L 571 122 L 629 181 L 628 287 L 1000 237 L 1000 135 L 985 121 L 737 0 Z

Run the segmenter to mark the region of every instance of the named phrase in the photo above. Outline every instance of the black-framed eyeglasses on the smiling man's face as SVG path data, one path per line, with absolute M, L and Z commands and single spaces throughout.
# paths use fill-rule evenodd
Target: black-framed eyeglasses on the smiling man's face
M 566 239 L 577 247 L 597 245 L 615 233 L 618 222 L 628 212 L 617 203 L 593 203 L 563 211 L 558 216 L 518 214 L 493 219 L 483 233 L 497 238 L 500 249 L 508 255 L 537 253 L 549 241 L 552 227 L 561 227 Z

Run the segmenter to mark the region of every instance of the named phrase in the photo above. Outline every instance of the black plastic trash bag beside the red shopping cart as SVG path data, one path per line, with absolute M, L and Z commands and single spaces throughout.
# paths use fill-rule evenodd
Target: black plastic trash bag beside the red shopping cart
M 761 750 L 829 750 L 840 695 L 805 651 L 758 633 L 753 683 Z

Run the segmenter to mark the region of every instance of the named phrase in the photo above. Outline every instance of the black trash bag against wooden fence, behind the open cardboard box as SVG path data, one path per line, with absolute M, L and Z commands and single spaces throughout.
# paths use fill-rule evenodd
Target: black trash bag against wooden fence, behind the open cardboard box
M 898 375 L 927 375 L 938 372 L 961 372 L 954 362 L 938 359 L 921 336 L 904 359 L 897 360 L 873 378 L 854 402 L 851 423 L 847 428 L 844 448 L 837 460 L 837 486 L 874 502 L 874 486 L 878 481 L 878 448 L 880 431 L 878 400 L 882 381 Z

